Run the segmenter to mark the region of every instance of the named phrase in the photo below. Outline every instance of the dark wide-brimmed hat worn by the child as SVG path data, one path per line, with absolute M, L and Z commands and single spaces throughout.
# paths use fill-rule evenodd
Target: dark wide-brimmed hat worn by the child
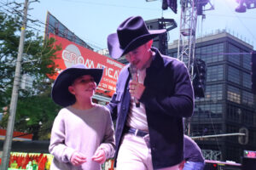
M 96 85 L 101 82 L 103 69 L 90 69 L 85 65 L 78 64 L 62 71 L 56 78 L 53 88 L 51 90 L 51 98 L 57 105 L 67 107 L 73 105 L 76 101 L 73 94 L 70 94 L 68 87 L 72 85 L 73 81 L 81 76 L 90 75 L 94 78 Z

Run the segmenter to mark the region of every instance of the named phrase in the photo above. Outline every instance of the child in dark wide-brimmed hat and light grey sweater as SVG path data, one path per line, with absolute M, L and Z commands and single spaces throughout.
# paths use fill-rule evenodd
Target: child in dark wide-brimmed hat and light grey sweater
M 62 71 L 52 88 L 52 99 L 64 107 L 55 117 L 49 153 L 50 169 L 100 170 L 114 153 L 109 111 L 92 102 L 103 69 L 73 65 Z

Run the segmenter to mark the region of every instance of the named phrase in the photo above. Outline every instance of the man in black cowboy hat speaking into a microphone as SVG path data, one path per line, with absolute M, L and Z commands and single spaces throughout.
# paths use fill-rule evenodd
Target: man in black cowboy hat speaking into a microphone
M 164 32 L 148 31 L 136 16 L 108 36 L 113 59 L 125 55 L 130 63 L 120 71 L 108 105 L 117 114 L 117 170 L 176 170 L 183 161 L 183 117 L 193 113 L 194 94 L 183 62 L 151 47 Z

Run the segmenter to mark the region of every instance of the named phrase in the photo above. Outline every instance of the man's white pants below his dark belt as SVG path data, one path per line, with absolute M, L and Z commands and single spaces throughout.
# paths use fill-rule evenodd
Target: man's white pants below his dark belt
M 125 134 L 119 148 L 116 170 L 153 170 L 151 150 L 142 137 Z M 158 170 L 178 170 L 178 165 Z

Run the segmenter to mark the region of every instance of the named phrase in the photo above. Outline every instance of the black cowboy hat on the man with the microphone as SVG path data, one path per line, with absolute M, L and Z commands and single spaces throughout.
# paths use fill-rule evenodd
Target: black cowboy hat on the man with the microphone
M 109 54 L 119 59 L 164 32 L 166 29 L 148 30 L 141 16 L 130 17 L 120 24 L 117 33 L 108 35 Z

